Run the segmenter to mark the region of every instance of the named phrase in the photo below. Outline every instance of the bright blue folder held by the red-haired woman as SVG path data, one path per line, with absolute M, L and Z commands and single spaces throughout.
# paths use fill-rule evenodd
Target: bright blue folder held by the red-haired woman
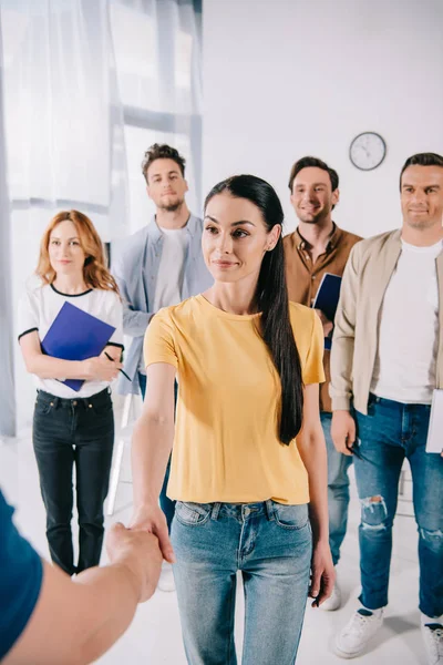
M 86 360 L 100 356 L 114 331 L 113 326 L 66 301 L 52 321 L 41 347 L 43 354 L 52 358 Z M 84 379 L 62 382 L 78 392 Z

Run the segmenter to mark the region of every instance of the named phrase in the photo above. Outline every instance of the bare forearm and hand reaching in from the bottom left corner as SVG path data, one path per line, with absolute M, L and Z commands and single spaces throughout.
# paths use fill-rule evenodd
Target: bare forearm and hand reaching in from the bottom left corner
M 73 581 L 44 562 L 39 600 L 3 665 L 86 665 L 125 632 L 137 603 L 155 591 L 162 555 L 154 535 L 122 524 L 106 544 L 110 565 Z

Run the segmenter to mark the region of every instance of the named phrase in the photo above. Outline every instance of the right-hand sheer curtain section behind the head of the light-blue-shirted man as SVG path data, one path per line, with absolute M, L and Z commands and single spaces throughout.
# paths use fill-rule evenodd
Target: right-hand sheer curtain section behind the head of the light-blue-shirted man
M 185 155 L 188 204 L 202 205 L 202 2 L 111 0 L 110 16 L 136 231 L 153 213 L 141 162 L 154 142 Z

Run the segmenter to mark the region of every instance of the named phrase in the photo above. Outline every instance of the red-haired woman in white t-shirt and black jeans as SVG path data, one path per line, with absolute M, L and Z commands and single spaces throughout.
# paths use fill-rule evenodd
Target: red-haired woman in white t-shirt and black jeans
M 103 503 L 114 443 L 110 383 L 122 367 L 122 304 L 100 236 L 78 211 L 59 213 L 49 224 L 37 275 L 41 284 L 29 288 L 20 304 L 19 341 L 38 388 L 32 438 L 49 549 L 52 561 L 72 575 L 97 565 L 102 551 Z M 115 328 L 101 356 L 74 361 L 42 352 L 41 340 L 66 301 Z M 84 383 L 76 392 L 62 382 L 65 379 L 84 379 Z M 74 464 L 76 565 L 71 533 Z

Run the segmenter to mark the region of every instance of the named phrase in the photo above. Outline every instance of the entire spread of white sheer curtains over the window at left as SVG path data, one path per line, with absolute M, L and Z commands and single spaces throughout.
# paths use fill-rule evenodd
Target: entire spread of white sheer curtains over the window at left
M 81 209 L 106 243 L 146 223 L 140 163 L 151 143 L 168 141 L 184 152 L 189 203 L 198 209 L 200 6 L 192 0 L 0 0 L 0 9 L 11 205 L 6 224 L 11 265 L 2 273 L 8 270 L 13 303 L 6 317 L 12 337 L 17 301 L 55 212 Z M 19 424 L 25 424 L 33 388 L 18 345 L 14 378 Z M 9 395 L 12 381 L 11 372 L 4 386 Z M 0 402 L 0 422 L 6 411 Z

